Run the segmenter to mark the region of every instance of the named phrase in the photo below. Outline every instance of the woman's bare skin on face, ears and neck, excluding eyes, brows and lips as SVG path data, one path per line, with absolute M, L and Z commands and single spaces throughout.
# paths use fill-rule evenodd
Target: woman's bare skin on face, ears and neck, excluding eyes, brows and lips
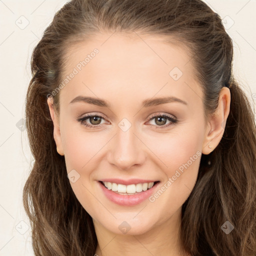
M 210 153 L 223 135 L 229 89 L 221 89 L 218 108 L 206 122 L 202 90 L 184 47 L 154 35 L 110 35 L 102 33 L 68 49 L 64 75 L 94 48 L 99 53 L 59 92 L 59 116 L 52 99 L 47 100 L 57 151 L 65 157 L 67 173 L 75 169 L 80 175 L 70 185 L 93 219 L 96 254 L 188 255 L 178 250 L 178 228 L 181 206 L 195 184 L 200 157 L 153 202 L 117 205 L 105 197 L 97 180 L 145 178 L 163 185 L 196 152 Z M 183 72 L 176 81 L 169 75 L 173 67 Z M 102 98 L 110 107 L 69 103 L 78 95 Z M 175 96 L 187 105 L 173 101 L 141 108 L 144 99 L 162 96 Z M 85 127 L 77 121 L 86 113 L 103 115 L 101 126 Z M 174 115 L 178 122 L 160 128 L 161 123 L 171 122 L 150 120 L 154 113 Z M 123 118 L 131 124 L 125 132 L 118 126 Z M 95 125 L 89 119 L 85 122 Z M 118 228 L 123 221 L 131 227 L 125 234 Z

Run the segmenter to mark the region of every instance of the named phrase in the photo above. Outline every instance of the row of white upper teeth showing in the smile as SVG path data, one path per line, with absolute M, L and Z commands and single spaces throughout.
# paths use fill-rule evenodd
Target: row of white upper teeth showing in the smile
M 112 191 L 117 191 L 119 193 L 130 193 L 133 194 L 135 192 L 146 191 L 147 189 L 151 188 L 154 182 L 149 183 L 138 183 L 138 184 L 130 184 L 130 185 L 123 185 L 123 184 L 116 184 L 111 182 L 103 182 L 107 189 L 111 189 Z

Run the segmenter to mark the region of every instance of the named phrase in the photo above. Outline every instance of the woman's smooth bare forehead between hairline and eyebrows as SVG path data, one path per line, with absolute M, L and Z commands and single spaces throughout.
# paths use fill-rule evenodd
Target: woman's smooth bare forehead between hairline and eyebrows
M 124 98 L 152 97 L 155 93 L 160 96 L 167 92 L 189 96 L 192 91 L 187 86 L 196 83 L 190 59 L 181 43 L 166 42 L 164 36 L 99 34 L 67 48 L 63 79 L 71 73 L 75 75 L 61 90 L 62 100 L 82 93 L 118 94 Z M 196 92 L 197 97 L 200 93 Z

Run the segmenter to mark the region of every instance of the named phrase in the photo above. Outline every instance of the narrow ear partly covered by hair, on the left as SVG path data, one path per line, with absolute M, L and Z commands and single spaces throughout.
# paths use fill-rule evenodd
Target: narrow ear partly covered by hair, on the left
M 56 150 L 60 155 L 64 155 L 62 141 L 60 136 L 60 129 L 59 129 L 59 118 L 54 112 L 54 105 L 52 97 L 47 98 L 47 104 L 49 106 L 50 116 L 53 122 L 53 138 L 56 143 Z

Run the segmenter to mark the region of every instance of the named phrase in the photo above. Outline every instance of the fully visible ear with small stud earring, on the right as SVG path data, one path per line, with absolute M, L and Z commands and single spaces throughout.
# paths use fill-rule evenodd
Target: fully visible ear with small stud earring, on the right
M 204 140 L 202 144 L 202 153 L 209 154 L 218 145 L 221 140 L 226 119 L 230 109 L 230 90 L 227 87 L 222 87 L 219 92 L 218 106 L 210 116 L 206 126 Z M 210 148 L 211 147 L 211 148 Z

